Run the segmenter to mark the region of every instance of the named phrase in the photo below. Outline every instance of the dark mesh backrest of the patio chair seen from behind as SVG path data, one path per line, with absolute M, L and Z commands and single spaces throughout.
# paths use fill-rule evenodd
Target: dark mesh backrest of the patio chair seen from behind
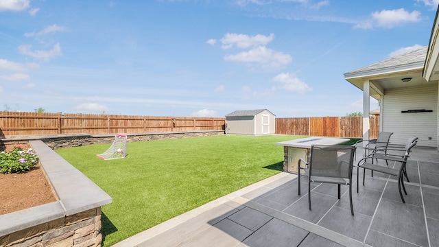
M 351 145 L 311 145 L 309 176 L 351 179 L 354 153 Z

